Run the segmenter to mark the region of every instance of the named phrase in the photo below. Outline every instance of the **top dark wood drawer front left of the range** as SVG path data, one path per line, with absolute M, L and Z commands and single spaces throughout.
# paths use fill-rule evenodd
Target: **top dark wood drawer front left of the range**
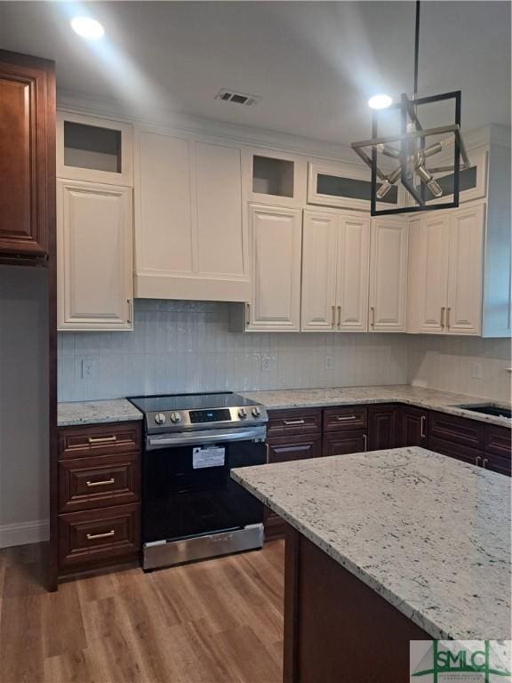
M 141 444 L 141 422 L 117 422 L 59 430 L 61 459 L 140 451 Z

